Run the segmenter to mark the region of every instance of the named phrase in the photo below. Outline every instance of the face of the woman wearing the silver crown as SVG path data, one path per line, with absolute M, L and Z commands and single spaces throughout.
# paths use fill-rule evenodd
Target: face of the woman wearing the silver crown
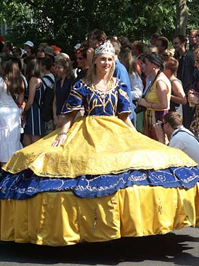
M 96 71 L 99 73 L 108 73 L 113 66 L 113 56 L 102 53 L 95 58 Z

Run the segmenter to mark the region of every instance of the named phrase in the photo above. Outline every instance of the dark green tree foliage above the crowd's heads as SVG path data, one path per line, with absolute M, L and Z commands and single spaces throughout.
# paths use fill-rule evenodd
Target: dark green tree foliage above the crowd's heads
M 0 0 L 0 22 L 10 30 L 7 39 L 21 44 L 59 44 L 68 50 L 81 42 L 94 28 L 108 37 L 127 36 L 131 41 L 147 41 L 159 32 L 171 39 L 176 28 L 175 0 Z M 198 0 L 187 0 L 188 28 L 197 28 Z M 34 23 L 30 23 L 30 21 Z

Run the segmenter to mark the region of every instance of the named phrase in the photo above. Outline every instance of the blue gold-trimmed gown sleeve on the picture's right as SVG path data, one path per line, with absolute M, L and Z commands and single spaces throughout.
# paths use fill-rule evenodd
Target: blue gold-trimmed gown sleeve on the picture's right
M 117 114 L 121 113 L 131 114 L 129 96 L 128 96 L 128 87 L 123 82 L 119 82 L 118 85 Z

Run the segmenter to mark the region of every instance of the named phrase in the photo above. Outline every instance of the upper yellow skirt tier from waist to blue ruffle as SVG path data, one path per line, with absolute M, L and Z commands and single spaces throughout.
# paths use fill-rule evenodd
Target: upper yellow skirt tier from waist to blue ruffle
M 3 170 L 17 173 L 30 168 L 42 177 L 74 178 L 128 169 L 196 166 L 184 152 L 133 131 L 115 116 L 77 118 L 66 142 L 52 148 L 59 131 L 15 152 Z

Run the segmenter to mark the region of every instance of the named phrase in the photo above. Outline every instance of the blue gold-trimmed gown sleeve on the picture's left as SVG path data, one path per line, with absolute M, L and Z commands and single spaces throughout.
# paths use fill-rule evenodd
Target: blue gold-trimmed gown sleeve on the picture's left
M 66 103 L 61 110 L 61 114 L 66 114 L 74 110 L 83 108 L 84 98 L 86 96 L 86 88 L 81 80 L 78 80 L 70 90 L 70 94 Z

